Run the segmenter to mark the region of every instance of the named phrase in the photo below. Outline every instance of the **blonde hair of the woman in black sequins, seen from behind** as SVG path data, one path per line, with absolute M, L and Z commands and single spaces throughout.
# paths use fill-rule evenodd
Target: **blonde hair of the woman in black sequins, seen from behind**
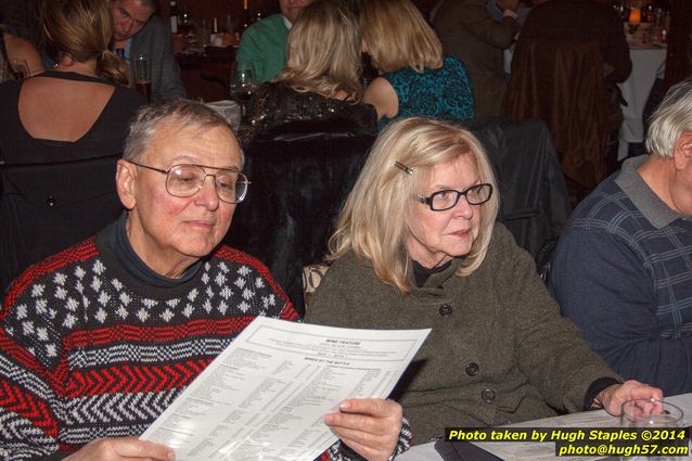
M 277 81 L 296 91 L 360 100 L 360 34 L 354 15 L 330 0 L 300 11 L 286 43 L 286 67 Z

